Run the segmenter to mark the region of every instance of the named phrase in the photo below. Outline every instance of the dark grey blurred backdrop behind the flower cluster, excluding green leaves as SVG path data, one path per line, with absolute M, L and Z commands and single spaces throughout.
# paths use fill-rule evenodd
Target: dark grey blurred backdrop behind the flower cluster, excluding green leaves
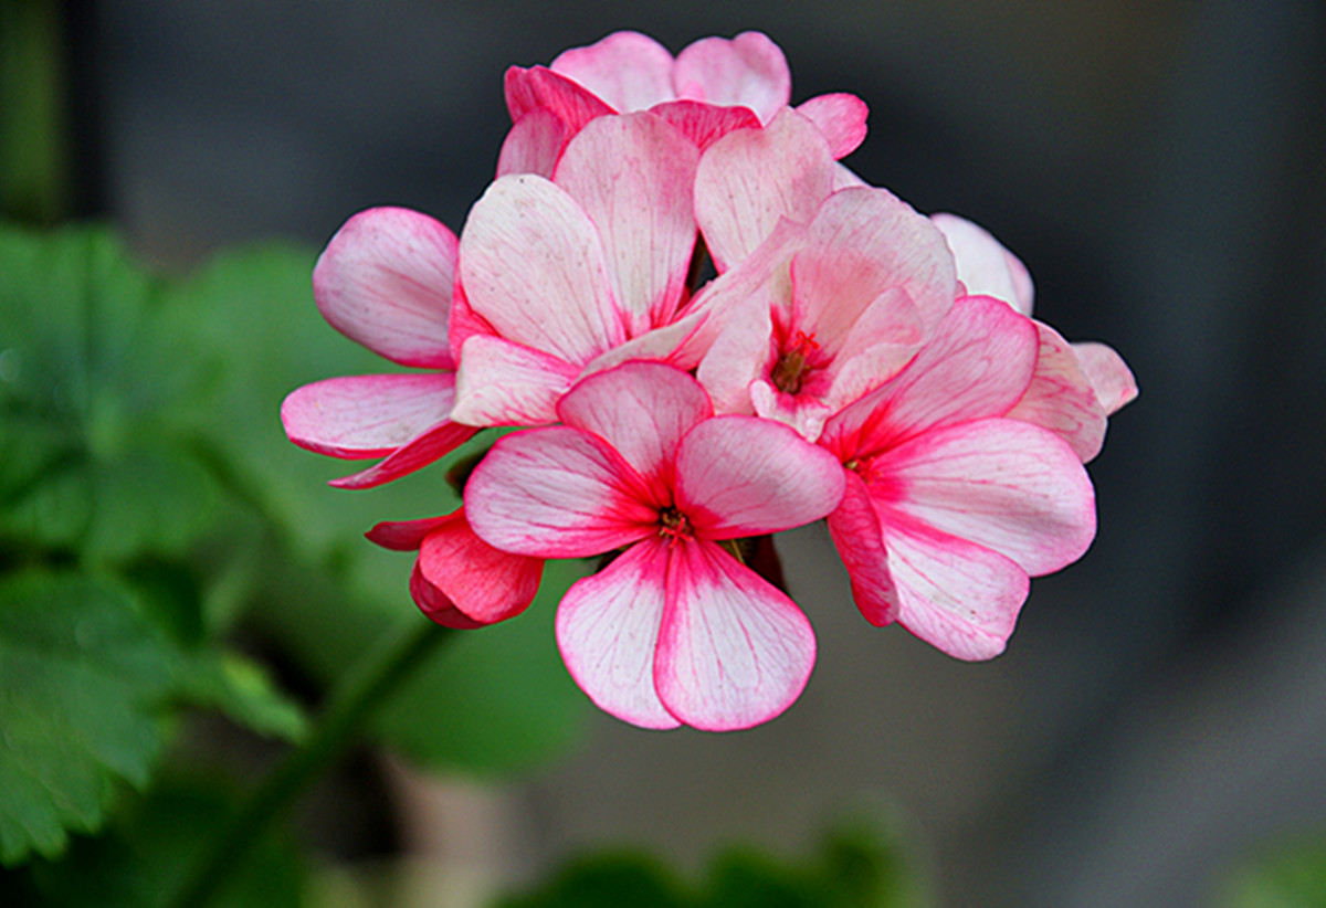
M 403 805 L 420 847 L 503 879 L 623 840 L 693 866 L 733 836 L 801 847 L 826 811 L 873 801 L 918 840 L 943 904 L 1132 907 L 1203 904 L 1249 850 L 1326 828 L 1321 4 L 66 12 L 73 209 L 151 261 L 321 244 L 378 204 L 459 231 L 508 126 L 508 65 L 623 28 L 672 52 L 760 29 L 788 56 L 794 102 L 845 90 L 870 105 L 853 168 L 988 227 L 1030 268 L 1037 315 L 1111 343 L 1138 376 L 1091 464 L 1095 546 L 1033 585 L 998 660 L 870 628 L 810 528 L 781 549 L 819 661 L 785 717 L 729 736 L 598 717 L 534 779 L 457 789 L 439 814 L 426 793 Z

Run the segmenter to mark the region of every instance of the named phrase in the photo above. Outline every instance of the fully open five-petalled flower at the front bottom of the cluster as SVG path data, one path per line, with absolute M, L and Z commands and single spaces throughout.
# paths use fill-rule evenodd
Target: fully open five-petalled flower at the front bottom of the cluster
M 724 542 L 823 517 L 843 471 L 792 429 L 713 416 L 695 379 L 626 363 L 579 382 L 562 426 L 508 435 L 465 486 L 475 533 L 533 558 L 617 557 L 557 611 L 572 676 L 644 728 L 749 728 L 814 664 L 800 608 Z

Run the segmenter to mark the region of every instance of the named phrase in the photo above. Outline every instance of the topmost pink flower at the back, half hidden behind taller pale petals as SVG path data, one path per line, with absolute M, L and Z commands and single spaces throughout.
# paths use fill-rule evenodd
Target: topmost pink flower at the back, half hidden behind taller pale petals
M 700 148 L 735 129 L 758 127 L 792 98 L 792 73 L 760 32 L 701 38 L 672 58 L 651 37 L 614 32 L 597 44 L 560 54 L 552 66 L 507 70 L 512 130 L 497 174 L 549 175 L 591 119 L 651 110 Z M 866 138 L 866 103 L 851 94 L 822 94 L 797 107 L 815 123 L 835 158 Z

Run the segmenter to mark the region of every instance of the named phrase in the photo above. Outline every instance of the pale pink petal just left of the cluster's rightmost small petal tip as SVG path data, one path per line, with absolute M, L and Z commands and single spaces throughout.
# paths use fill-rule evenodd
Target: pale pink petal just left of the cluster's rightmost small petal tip
M 1101 453 L 1105 444 L 1105 408 L 1069 342 L 1041 322 L 1036 322 L 1036 331 L 1040 353 L 1032 383 L 1005 415 L 1054 432 L 1073 445 L 1085 464 Z

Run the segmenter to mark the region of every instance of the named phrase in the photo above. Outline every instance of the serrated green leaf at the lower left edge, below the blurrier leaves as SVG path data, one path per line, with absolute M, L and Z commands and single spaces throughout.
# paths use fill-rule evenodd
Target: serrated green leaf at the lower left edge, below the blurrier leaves
M 143 787 L 175 653 L 118 585 L 0 581 L 0 863 L 94 831 L 118 782 Z

